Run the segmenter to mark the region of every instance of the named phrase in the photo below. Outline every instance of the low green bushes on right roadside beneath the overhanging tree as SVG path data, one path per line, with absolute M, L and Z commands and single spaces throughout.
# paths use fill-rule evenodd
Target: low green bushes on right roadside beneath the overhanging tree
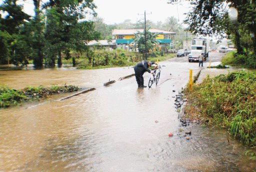
M 237 54 L 236 52 L 227 52 L 222 58 L 223 65 L 243 66 L 245 68 L 256 68 L 256 55 L 249 53 L 248 55 Z

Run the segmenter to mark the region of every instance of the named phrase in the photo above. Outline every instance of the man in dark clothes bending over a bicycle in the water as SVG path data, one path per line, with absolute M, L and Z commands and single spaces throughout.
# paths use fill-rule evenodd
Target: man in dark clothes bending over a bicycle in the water
M 152 64 L 156 64 L 156 63 L 143 60 L 142 62 L 139 62 L 134 66 L 134 72 L 135 72 L 135 77 L 136 77 L 138 87 L 140 88 L 146 87 L 144 86 L 143 74 L 145 72 L 153 73 L 151 70 L 148 69 L 148 67 L 150 67 Z

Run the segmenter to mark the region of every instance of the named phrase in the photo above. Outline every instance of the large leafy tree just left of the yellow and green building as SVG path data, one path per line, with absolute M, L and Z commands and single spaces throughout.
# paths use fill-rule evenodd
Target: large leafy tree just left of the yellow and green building
M 57 55 L 57 64 L 60 67 L 62 52 L 69 57 L 70 50 L 84 51 L 87 49 L 87 41 L 98 39 L 99 34 L 94 32 L 93 22 L 78 22 L 87 13 L 96 15 L 96 6 L 92 0 L 52 0 L 44 7 L 48 7 L 45 32 L 48 65 L 54 66 Z

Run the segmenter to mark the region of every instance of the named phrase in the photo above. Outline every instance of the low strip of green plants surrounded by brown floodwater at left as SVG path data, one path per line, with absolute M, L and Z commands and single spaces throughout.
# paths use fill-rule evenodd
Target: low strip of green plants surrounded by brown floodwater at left
M 11 89 L 7 86 L 0 86 L 0 108 L 17 105 L 28 100 L 43 99 L 52 94 L 73 92 L 78 90 L 79 88 L 73 85 L 51 86 L 50 88 L 43 88 L 42 86 L 37 88 L 26 87 L 21 90 Z

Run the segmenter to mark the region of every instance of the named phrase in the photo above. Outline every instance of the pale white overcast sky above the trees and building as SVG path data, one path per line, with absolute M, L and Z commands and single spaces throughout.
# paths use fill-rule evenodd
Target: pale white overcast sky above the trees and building
M 47 0 L 42 0 L 47 1 Z M 164 21 L 167 17 L 174 16 L 181 23 L 185 18 L 183 13 L 188 12 L 189 1 L 180 0 L 176 4 L 167 4 L 167 0 L 93 0 L 97 8 L 95 11 L 98 17 L 103 18 L 106 24 L 114 24 L 123 22 L 125 19 L 131 19 L 136 22 L 144 19 L 144 11 L 146 19 L 156 21 Z M 3 0 L 0 0 L 0 4 Z M 18 3 L 24 4 L 24 11 L 29 15 L 34 15 L 32 0 L 17 0 Z M 138 15 L 142 14 L 142 15 Z

